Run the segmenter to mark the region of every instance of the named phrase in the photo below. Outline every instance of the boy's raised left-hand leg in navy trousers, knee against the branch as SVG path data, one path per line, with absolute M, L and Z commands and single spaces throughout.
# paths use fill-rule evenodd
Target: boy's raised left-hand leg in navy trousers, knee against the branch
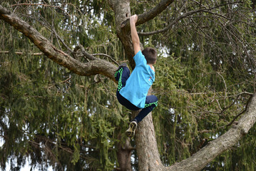
M 118 81 L 118 91 L 126 86 L 126 81 L 130 76 L 130 70 L 126 66 L 120 66 L 118 71 L 115 73 L 116 81 Z

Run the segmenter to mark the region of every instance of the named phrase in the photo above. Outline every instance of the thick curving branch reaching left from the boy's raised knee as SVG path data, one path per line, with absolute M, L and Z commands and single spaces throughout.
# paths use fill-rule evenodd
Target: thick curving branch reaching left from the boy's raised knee
M 112 63 L 98 58 L 88 63 L 81 63 L 80 61 L 77 61 L 67 53 L 58 50 L 50 41 L 43 37 L 41 33 L 36 31 L 35 28 L 27 24 L 15 14 L 11 14 L 10 11 L 3 8 L 1 5 L 0 19 L 6 21 L 6 23 L 9 23 L 21 33 L 24 33 L 24 35 L 28 37 L 48 58 L 58 63 L 59 65 L 68 68 L 73 73 L 76 73 L 80 76 L 102 74 L 115 81 L 113 75 L 117 67 Z

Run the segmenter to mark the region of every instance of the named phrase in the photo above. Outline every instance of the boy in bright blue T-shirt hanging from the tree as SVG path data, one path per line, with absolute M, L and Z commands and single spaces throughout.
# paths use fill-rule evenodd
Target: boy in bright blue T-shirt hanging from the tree
M 140 39 L 135 27 L 137 20 L 137 15 L 130 17 L 135 68 L 130 74 L 126 63 L 122 63 L 115 73 L 116 81 L 118 81 L 116 97 L 119 103 L 129 110 L 141 109 L 140 113 L 130 122 L 128 130 L 126 130 L 128 138 L 133 138 L 138 123 L 158 105 L 158 98 L 155 95 L 148 95 L 148 90 L 155 81 L 153 64 L 156 62 L 157 53 L 154 48 L 145 48 L 140 51 Z

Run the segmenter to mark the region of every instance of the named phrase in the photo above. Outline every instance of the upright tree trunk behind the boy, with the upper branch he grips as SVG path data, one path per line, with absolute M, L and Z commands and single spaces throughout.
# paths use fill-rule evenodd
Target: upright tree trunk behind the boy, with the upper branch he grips
M 134 68 L 134 51 L 130 38 L 130 23 L 128 22 L 128 17 L 130 16 L 130 1 L 111 0 L 110 2 L 113 11 L 115 11 L 116 14 L 116 31 L 118 33 L 118 37 L 123 43 L 130 66 Z M 153 19 L 165 10 L 172 2 L 173 0 L 160 1 L 160 3 L 150 11 L 138 15 L 137 25 Z M 136 114 L 138 114 L 138 112 L 133 112 L 133 115 Z M 135 141 L 139 170 L 159 170 L 159 167 L 162 164 L 160 162 L 158 146 L 155 139 L 155 129 L 151 113 L 138 125 L 138 130 L 135 134 Z

